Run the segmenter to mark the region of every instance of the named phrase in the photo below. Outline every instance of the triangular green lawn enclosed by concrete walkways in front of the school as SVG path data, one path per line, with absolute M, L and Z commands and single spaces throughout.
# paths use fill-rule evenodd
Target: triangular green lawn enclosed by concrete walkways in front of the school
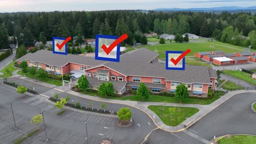
M 162 110 L 164 108 L 164 110 Z M 199 109 L 194 107 L 174 107 L 174 106 L 148 106 L 149 110 L 158 115 L 162 122 L 166 125 L 170 125 L 175 127 L 179 125 L 183 121 L 185 121 L 185 117 L 189 118 L 193 116 L 196 112 L 199 112 Z M 179 111 L 180 110 L 180 111 Z

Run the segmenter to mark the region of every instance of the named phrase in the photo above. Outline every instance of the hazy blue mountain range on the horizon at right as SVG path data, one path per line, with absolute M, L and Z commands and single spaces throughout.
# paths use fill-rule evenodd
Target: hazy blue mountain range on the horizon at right
M 256 10 L 256 6 L 254 7 L 212 7 L 212 8 L 188 8 L 188 9 L 180 9 L 180 8 L 161 8 L 154 9 L 155 11 L 242 11 L 242 10 Z

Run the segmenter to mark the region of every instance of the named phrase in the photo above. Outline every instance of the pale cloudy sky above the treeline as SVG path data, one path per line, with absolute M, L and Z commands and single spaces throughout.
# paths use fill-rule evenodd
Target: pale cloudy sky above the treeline
M 255 0 L 0 0 L 0 13 L 18 11 L 95 11 L 157 8 L 252 7 Z

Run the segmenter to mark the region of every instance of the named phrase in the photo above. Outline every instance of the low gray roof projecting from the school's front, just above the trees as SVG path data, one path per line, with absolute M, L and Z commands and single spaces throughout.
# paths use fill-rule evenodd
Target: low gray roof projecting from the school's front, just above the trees
M 90 77 L 90 76 L 86 76 L 87 79 L 89 80 L 89 85 L 90 86 L 100 86 L 102 82 L 107 83 L 107 82 L 111 82 L 114 86 L 114 89 L 118 89 L 121 90 L 122 88 L 124 88 L 124 86 L 126 85 L 127 81 L 113 81 L 113 80 L 109 80 L 109 81 L 103 81 L 103 80 L 98 80 L 96 77 Z

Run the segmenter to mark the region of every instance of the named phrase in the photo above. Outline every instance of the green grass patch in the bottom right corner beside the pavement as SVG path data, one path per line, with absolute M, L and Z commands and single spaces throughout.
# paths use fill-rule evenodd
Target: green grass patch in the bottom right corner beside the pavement
M 229 139 L 224 137 L 220 139 L 219 144 L 255 144 L 256 143 L 256 136 L 250 135 L 235 135 L 231 136 Z

